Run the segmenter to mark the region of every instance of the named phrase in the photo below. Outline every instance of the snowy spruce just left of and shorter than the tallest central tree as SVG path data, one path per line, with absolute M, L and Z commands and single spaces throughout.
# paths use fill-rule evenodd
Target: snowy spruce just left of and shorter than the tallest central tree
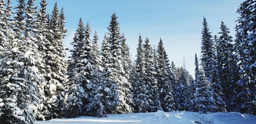
M 95 39 L 95 38 L 94 38 Z M 104 36 L 102 42 L 102 70 L 98 75 L 96 75 L 96 83 L 93 85 L 92 93 L 93 96 L 90 98 L 90 103 L 88 105 L 88 111 L 90 115 L 96 116 L 98 118 L 108 117 L 108 113 L 111 110 L 111 79 L 109 77 L 109 60 L 111 59 L 110 53 L 110 43 L 107 40 L 107 36 Z M 95 81 L 94 81 L 95 82 Z

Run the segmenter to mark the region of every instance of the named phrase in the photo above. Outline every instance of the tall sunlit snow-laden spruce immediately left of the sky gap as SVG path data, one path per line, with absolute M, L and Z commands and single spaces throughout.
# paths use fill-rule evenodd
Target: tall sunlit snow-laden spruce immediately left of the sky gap
M 52 16 L 49 22 L 47 31 L 47 41 L 45 43 L 45 71 L 44 74 L 44 94 L 47 101 L 43 101 L 47 109 L 42 110 L 44 119 L 62 118 L 64 116 L 64 85 L 66 74 L 66 62 L 64 57 L 64 28 L 61 25 L 64 18 L 58 14 L 58 6 L 55 6 L 52 11 Z

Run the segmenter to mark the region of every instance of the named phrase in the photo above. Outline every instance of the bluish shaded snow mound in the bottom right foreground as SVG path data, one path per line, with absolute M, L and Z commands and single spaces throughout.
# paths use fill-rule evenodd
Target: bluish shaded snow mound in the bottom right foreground
M 144 124 L 256 124 L 256 116 L 241 113 L 207 113 L 157 111 Z

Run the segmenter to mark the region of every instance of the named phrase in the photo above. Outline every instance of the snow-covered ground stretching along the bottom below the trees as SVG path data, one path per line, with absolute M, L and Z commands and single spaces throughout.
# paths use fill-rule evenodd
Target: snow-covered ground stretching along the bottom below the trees
M 256 124 L 256 116 L 241 113 L 199 114 L 186 111 L 164 113 L 114 114 L 108 118 L 80 116 L 77 118 L 35 121 L 35 124 Z

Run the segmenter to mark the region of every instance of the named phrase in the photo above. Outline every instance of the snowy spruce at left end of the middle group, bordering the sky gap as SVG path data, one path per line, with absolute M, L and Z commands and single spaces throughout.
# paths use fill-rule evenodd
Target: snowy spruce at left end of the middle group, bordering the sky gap
M 75 37 L 73 38 L 73 50 L 70 50 L 71 57 L 68 65 L 68 90 L 66 116 L 68 118 L 74 118 L 82 115 L 82 109 L 84 108 L 84 99 L 87 98 L 84 87 L 82 87 L 81 73 L 79 66 L 81 66 L 81 55 L 83 54 L 82 48 L 85 45 L 85 28 L 82 19 L 79 19 L 78 28 L 76 29 Z

